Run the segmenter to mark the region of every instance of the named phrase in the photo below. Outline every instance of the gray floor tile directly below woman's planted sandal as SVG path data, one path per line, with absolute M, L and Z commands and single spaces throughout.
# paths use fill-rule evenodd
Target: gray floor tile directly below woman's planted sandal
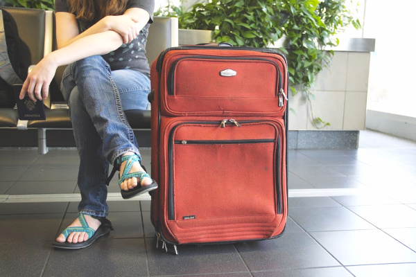
M 42 276 L 148 276 L 144 240 L 104 236 L 85 249 L 54 249 Z

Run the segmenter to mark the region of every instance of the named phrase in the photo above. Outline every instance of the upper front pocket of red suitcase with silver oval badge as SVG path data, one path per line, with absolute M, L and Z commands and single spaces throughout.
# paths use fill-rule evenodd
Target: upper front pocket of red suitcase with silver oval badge
M 187 56 L 168 75 L 168 95 L 276 98 L 282 87 L 279 66 L 260 57 Z

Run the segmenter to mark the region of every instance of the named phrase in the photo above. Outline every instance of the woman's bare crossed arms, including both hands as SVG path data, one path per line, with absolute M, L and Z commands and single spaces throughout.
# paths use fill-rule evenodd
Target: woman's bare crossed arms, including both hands
M 21 89 L 20 98 L 24 98 L 27 91 L 29 98 L 33 101 L 46 99 L 49 84 L 58 66 L 116 50 L 126 38 L 130 42 L 137 37 L 148 19 L 148 12 L 139 8 L 131 8 L 124 15 L 110 17 L 106 19 L 108 21 L 98 21 L 84 33 L 77 35 L 78 25 L 75 17 L 66 12 L 57 12 L 57 25 L 60 26 L 57 28 L 57 35 L 60 34 L 57 37 L 59 49 L 46 55 L 28 74 Z M 105 22 L 107 23 L 104 24 Z

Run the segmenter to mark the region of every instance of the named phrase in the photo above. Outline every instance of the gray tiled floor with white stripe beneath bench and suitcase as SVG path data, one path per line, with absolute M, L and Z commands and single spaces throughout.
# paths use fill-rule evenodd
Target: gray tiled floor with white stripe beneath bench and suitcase
M 87 249 L 53 249 L 76 217 L 76 150 L 0 150 L 0 276 L 415 276 L 416 143 L 366 131 L 358 150 L 288 155 L 284 235 L 172 256 L 155 248 L 149 202 L 118 201 L 116 180 L 115 230 Z

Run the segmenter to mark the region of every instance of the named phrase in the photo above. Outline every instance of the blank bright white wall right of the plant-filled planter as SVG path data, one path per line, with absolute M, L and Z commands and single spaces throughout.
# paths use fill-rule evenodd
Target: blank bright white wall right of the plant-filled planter
M 367 109 L 416 117 L 415 1 L 367 0 L 363 35 L 376 39 Z

